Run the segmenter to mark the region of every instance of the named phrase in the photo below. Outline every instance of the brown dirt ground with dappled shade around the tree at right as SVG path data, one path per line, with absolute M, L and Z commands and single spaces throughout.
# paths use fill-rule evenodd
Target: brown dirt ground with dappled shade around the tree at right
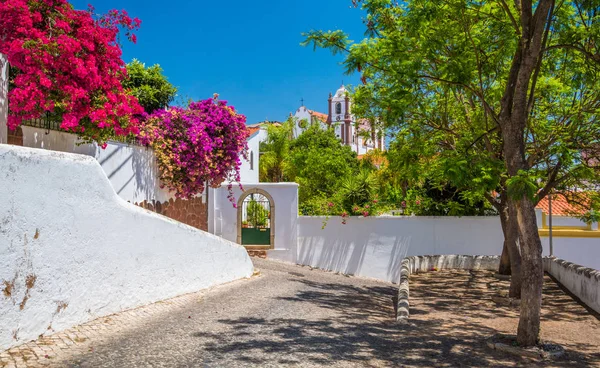
M 485 340 L 495 334 L 515 334 L 519 310 L 499 305 L 493 297 L 505 293 L 509 282 L 489 271 L 441 271 L 411 275 L 410 323 L 427 345 L 455 355 L 460 366 L 589 367 L 600 366 L 600 320 L 578 304 L 548 276 L 544 278 L 541 336 L 564 347 L 564 357 L 536 362 L 490 350 Z M 427 329 L 429 331 L 425 332 Z M 437 348 L 436 348 L 437 350 Z M 448 361 L 446 361 L 449 363 Z M 450 365 L 453 365 L 450 364 Z

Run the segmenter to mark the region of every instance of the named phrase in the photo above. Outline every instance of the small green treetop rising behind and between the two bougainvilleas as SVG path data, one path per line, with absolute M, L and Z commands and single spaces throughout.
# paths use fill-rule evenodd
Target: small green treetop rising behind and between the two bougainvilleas
M 127 75 L 123 87 L 137 97 L 148 114 L 168 107 L 175 99 L 177 88 L 163 75 L 160 65 L 146 67 L 144 63 L 133 59 L 127 64 Z

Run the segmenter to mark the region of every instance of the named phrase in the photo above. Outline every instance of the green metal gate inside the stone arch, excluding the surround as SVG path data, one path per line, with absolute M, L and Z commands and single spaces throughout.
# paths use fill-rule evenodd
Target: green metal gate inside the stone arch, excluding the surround
M 271 204 L 261 194 L 242 203 L 242 245 L 271 245 Z

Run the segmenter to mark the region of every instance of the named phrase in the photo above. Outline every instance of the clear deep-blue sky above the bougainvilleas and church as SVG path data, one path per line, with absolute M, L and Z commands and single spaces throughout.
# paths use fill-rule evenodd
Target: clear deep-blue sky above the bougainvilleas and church
M 362 12 L 350 0 L 85 0 L 98 13 L 125 9 L 142 20 L 138 43 L 124 42 L 123 59 L 160 64 L 184 97 L 217 92 L 248 123 L 283 120 L 300 106 L 327 112 L 329 92 L 356 84 L 341 56 L 302 47 L 302 32 L 343 29 L 363 38 Z

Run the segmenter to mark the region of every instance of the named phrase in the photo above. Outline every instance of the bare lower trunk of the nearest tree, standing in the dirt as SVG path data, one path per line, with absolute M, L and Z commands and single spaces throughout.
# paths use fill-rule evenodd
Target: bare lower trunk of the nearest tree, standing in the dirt
M 519 231 L 522 237 L 521 257 L 523 268 L 521 287 L 521 316 L 517 330 L 517 342 L 521 346 L 538 343 L 544 268 L 542 242 L 538 233 L 533 202 L 526 197 L 517 201 Z

